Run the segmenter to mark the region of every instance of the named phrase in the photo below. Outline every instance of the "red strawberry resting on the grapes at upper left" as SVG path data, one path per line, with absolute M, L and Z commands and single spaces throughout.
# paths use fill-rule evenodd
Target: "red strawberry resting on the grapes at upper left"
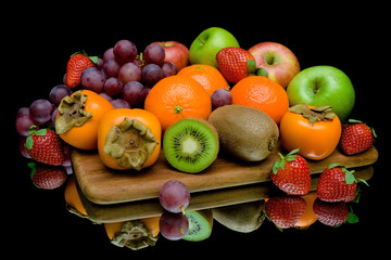
M 94 67 L 97 62 L 98 58 L 96 56 L 89 57 L 85 53 L 79 52 L 73 54 L 66 64 L 66 84 L 70 88 L 77 87 L 80 83 L 83 70 Z

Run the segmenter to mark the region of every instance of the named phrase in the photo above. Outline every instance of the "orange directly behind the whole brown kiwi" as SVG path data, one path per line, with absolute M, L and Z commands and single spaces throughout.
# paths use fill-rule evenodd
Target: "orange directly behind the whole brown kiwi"
M 234 86 L 230 92 L 232 104 L 257 108 L 269 115 L 277 125 L 289 108 L 285 89 L 264 76 L 243 78 Z

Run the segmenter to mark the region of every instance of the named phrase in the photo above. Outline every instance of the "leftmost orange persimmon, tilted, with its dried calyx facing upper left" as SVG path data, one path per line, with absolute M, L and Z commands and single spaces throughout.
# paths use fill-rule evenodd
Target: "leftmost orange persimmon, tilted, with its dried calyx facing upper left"
M 80 150 L 96 150 L 98 125 L 114 106 L 90 90 L 79 90 L 65 96 L 59 105 L 55 131 L 62 140 Z

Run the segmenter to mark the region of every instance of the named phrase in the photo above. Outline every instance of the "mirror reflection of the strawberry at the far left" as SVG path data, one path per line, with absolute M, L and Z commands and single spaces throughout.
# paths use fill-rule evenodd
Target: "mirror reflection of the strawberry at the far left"
M 43 190 L 53 190 L 65 183 L 67 178 L 65 168 L 62 166 L 49 166 L 29 162 L 31 168 L 31 181 L 34 185 Z

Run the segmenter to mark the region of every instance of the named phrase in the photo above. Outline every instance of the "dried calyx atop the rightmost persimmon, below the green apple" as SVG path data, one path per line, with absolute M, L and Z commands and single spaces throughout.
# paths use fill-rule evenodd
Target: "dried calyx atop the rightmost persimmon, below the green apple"
M 299 104 L 289 107 L 289 110 L 302 115 L 304 118 L 308 119 L 311 125 L 314 125 L 316 121 L 332 120 L 336 117 L 336 113 L 332 112 L 331 106 L 310 108 L 307 104 Z

